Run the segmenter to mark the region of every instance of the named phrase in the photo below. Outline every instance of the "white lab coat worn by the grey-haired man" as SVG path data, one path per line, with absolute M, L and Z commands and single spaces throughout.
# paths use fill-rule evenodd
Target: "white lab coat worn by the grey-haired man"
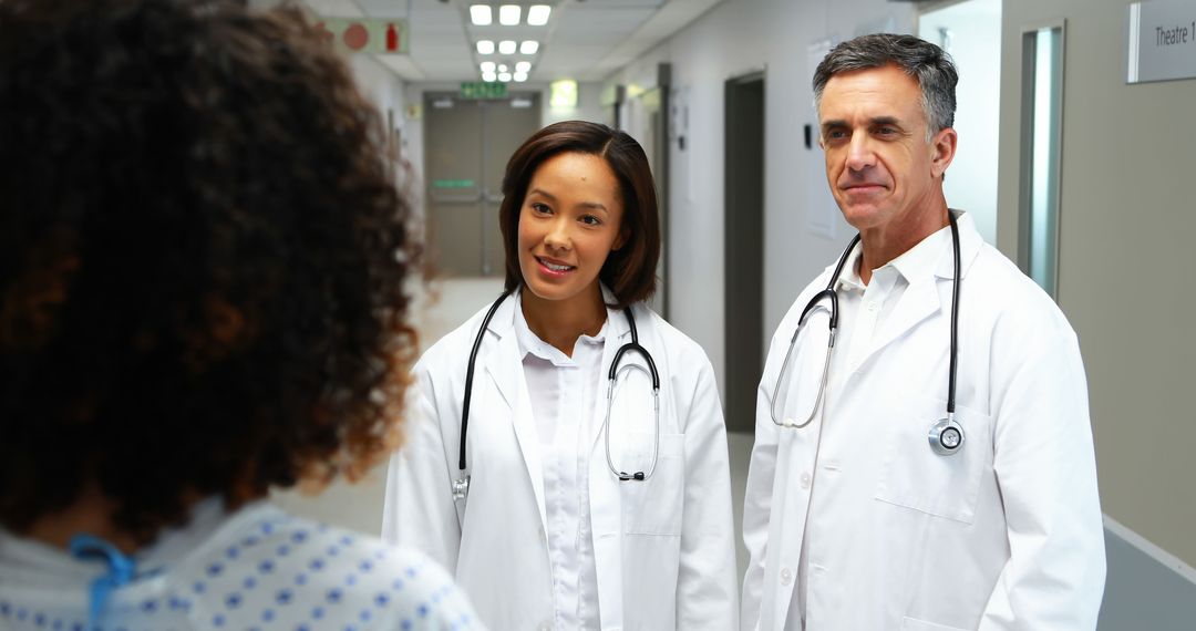
M 743 629 L 801 627 L 787 617 L 804 537 L 807 629 L 1096 627 L 1104 539 L 1075 333 L 971 218 L 958 223 L 960 453 L 927 442 L 946 410 L 950 241 L 841 381 L 828 419 L 777 428 L 769 403 L 800 311 L 832 268 L 774 335 L 744 506 Z M 820 333 L 799 343 L 793 387 L 817 387 L 825 313 L 810 321 Z

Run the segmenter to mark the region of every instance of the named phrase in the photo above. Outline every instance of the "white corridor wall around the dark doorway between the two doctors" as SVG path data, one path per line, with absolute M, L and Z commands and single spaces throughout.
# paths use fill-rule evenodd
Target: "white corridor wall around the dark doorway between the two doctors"
M 706 349 L 720 388 L 725 81 L 765 73 L 764 330 L 770 336 L 798 292 L 852 234 L 828 192 L 822 151 L 801 145 L 803 124 L 816 122 L 807 47 L 911 26 L 908 5 L 884 0 L 725 0 L 608 79 L 652 86 L 658 63 L 670 62 L 673 98 L 688 106 L 687 147 L 673 142 L 670 153 L 670 319 Z M 830 218 L 834 235 L 812 234 L 807 214 Z

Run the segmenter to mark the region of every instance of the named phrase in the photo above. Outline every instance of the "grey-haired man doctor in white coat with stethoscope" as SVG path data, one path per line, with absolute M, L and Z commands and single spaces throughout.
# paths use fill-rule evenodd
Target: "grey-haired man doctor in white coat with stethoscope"
M 773 337 L 745 630 L 1096 627 L 1105 560 L 1080 349 L 1054 301 L 947 209 L 956 82 L 947 55 L 909 36 L 844 42 L 816 71 L 826 179 L 861 240 Z M 828 286 L 829 364 L 824 294 L 779 382 Z M 956 299 L 957 431 L 942 434 Z

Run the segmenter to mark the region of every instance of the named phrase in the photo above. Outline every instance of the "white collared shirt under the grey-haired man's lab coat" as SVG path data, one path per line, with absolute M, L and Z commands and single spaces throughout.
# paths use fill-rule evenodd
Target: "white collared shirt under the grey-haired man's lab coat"
M 897 258 L 872 271 L 872 280 L 865 284 L 859 268 L 864 261 L 864 249 L 856 244 L 848 256 L 847 265 L 840 274 L 838 289 L 838 333 L 836 333 L 835 353 L 830 360 L 830 374 L 826 382 L 826 399 L 823 408 L 823 423 L 842 422 L 835 418 L 835 394 L 843 381 L 867 359 L 885 323 L 901 302 L 905 289 L 915 278 L 925 278 L 935 272 L 944 247 L 950 247 L 951 227 L 946 226 L 922 239 Z M 811 467 L 817 473 L 818 466 Z M 817 478 L 811 482 L 811 506 L 817 492 Z M 806 513 L 808 522 L 810 513 Z M 801 560 L 798 564 L 798 581 L 789 601 L 789 620 L 801 620 L 805 626 L 806 598 L 808 589 L 807 571 L 810 565 L 811 541 L 810 529 L 801 540 Z

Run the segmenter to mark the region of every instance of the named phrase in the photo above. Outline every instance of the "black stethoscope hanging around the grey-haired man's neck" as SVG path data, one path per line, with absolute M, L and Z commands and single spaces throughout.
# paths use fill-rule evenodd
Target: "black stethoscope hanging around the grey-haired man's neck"
M 935 421 L 930 425 L 929 431 L 927 431 L 930 449 L 939 455 L 959 453 L 959 448 L 964 445 L 964 428 L 956 422 L 956 367 L 959 360 L 957 350 L 959 327 L 959 228 L 956 226 L 956 216 L 950 210 L 947 210 L 947 220 L 951 223 L 951 245 L 954 250 L 956 264 L 954 278 L 952 278 L 951 283 L 951 369 L 947 375 L 947 416 Z M 777 375 L 776 385 L 773 386 L 773 399 L 769 403 L 769 415 L 773 417 L 773 423 L 780 427 L 801 429 L 813 422 L 814 416 L 818 415 L 818 409 L 822 406 L 822 399 L 826 392 L 826 373 L 830 368 L 830 354 L 835 348 L 835 331 L 838 329 L 838 294 L 836 294 L 835 288 L 838 286 L 838 276 L 843 271 L 843 267 L 847 264 L 847 259 L 858 243 L 860 243 L 859 234 L 852 239 L 847 250 L 843 250 L 843 255 L 838 257 L 838 264 L 835 265 L 835 272 L 831 274 L 826 288 L 810 299 L 806 307 L 801 310 L 801 317 L 798 318 L 798 329 L 793 332 L 793 338 L 789 339 L 789 350 L 785 354 L 785 363 L 781 364 L 781 374 Z M 805 324 L 806 317 L 823 300 L 830 300 L 830 337 L 826 342 L 826 357 L 823 360 L 822 382 L 818 386 L 814 406 L 810 410 L 810 416 L 800 423 L 793 418 L 777 421 L 780 415 L 777 415 L 776 405 L 780 399 L 781 384 L 788 382 L 786 378 L 789 374 L 789 364 L 794 356 L 793 348 L 798 342 L 798 335 L 801 332 L 801 326 Z

